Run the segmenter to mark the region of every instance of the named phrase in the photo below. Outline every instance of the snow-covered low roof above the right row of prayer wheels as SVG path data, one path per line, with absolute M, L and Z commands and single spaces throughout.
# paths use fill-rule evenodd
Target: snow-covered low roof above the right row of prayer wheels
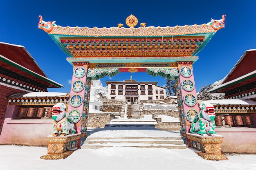
M 256 105 L 253 100 L 240 100 L 240 99 L 219 99 L 219 100 L 206 100 L 213 105 Z

